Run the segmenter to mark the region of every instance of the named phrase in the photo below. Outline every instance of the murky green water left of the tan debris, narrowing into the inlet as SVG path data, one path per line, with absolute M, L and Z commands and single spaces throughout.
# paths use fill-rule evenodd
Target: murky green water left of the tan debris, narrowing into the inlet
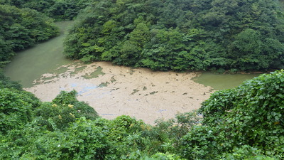
M 72 24 L 73 21 L 56 23 L 60 28 L 60 36 L 18 52 L 12 62 L 4 68 L 4 74 L 11 80 L 20 81 L 23 87 L 31 87 L 33 80 L 40 78 L 40 75 L 55 70 L 60 65 L 72 63 L 62 54 L 63 39 Z

